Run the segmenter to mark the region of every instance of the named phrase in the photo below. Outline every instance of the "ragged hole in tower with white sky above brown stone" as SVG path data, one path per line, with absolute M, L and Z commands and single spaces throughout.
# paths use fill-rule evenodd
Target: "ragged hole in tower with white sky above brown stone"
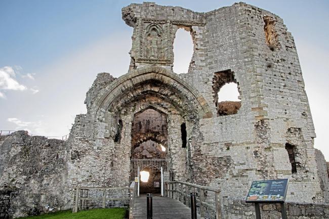
M 241 107 L 239 84 L 230 69 L 214 73 L 213 96 L 217 116 L 236 114 Z

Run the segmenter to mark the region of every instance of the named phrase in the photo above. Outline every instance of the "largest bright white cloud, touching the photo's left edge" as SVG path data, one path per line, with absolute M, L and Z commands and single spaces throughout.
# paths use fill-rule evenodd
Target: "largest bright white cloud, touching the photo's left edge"
M 1 90 L 13 90 L 13 91 L 24 91 L 27 87 L 20 84 L 16 80 L 16 74 L 12 67 L 5 66 L 0 68 L 0 91 Z M 4 97 L 4 93 L 2 93 Z

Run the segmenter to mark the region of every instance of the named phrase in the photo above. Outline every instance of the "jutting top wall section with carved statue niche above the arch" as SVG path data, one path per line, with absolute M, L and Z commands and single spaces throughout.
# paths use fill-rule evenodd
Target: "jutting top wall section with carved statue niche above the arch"
M 152 2 L 122 8 L 122 19 L 134 27 L 130 69 L 146 65 L 172 69 L 177 29 L 182 27 L 195 33 L 205 25 L 204 13 Z

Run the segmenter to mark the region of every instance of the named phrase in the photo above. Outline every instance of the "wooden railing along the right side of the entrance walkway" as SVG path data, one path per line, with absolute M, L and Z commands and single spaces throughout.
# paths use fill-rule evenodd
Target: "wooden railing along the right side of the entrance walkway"
M 166 183 L 165 191 L 167 197 L 177 199 L 187 206 L 190 205 L 190 193 L 195 192 L 201 217 L 207 214 L 210 218 L 222 218 L 220 189 L 173 181 Z

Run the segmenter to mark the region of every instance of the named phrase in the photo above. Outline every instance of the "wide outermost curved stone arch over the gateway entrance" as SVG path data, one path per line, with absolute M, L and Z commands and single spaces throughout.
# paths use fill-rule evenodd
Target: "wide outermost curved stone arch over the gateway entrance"
M 143 86 L 143 91 L 136 90 L 141 84 L 147 85 L 154 82 L 162 84 L 162 86 L 155 87 L 153 89 L 154 91 L 152 91 L 151 86 Z M 176 93 L 176 98 L 180 98 L 183 104 L 195 110 L 198 118 L 210 118 L 213 116 L 207 101 L 205 101 L 201 94 L 179 78 L 177 74 L 159 66 L 142 67 L 132 70 L 109 84 L 105 91 L 105 94 L 97 99 L 94 106 L 99 118 L 104 117 L 104 114 L 113 108 L 113 103 L 117 102 L 117 100 L 122 100 L 125 94 L 130 93 L 130 97 L 126 98 L 132 99 L 137 93 L 143 92 L 154 92 L 158 94 Z

